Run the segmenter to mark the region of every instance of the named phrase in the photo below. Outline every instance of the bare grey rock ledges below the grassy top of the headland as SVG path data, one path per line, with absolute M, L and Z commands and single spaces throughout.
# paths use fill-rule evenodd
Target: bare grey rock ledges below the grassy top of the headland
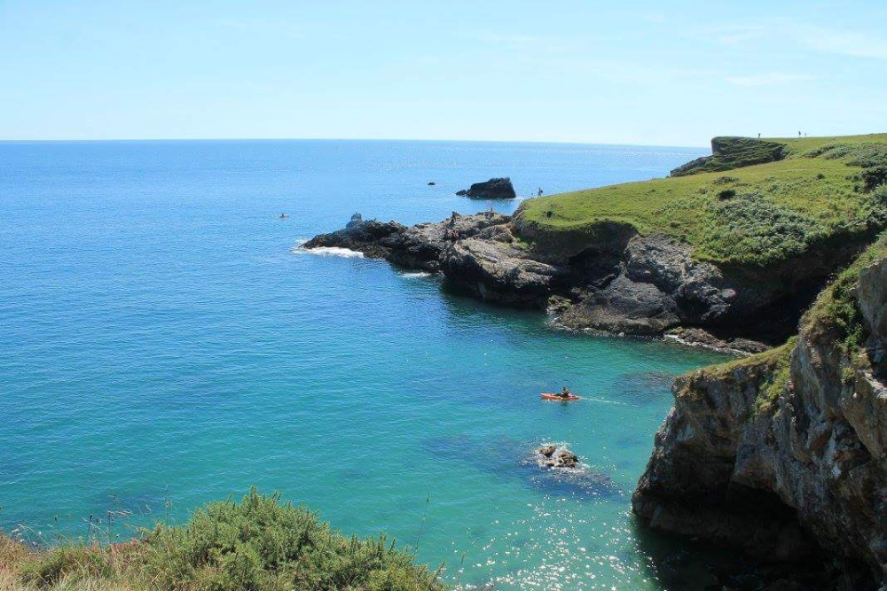
M 347 228 L 302 247 L 339 246 L 440 272 L 479 298 L 507 305 L 546 309 L 555 297 L 556 322 L 568 329 L 662 336 L 677 327 L 704 328 L 718 338 L 702 338 L 703 346 L 726 337 L 731 340 L 725 349 L 747 352 L 758 347 L 748 338 L 784 339 L 815 288 L 856 248 L 833 249 L 828 257 L 810 253 L 783 269 L 767 269 L 770 276 L 762 280 L 764 271 L 695 261 L 689 245 L 640 236 L 625 224 L 611 224 L 596 241 L 553 240 L 536 236 L 520 213 L 513 219 L 453 212 L 443 222 L 412 227 L 356 217 Z M 730 346 L 734 341 L 737 346 Z

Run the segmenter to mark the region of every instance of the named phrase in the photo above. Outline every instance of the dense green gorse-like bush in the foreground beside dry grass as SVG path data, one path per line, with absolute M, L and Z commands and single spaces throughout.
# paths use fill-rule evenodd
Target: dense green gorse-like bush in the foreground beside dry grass
M 309 510 L 255 488 L 240 503 L 210 503 L 184 527 L 158 526 L 147 545 L 148 569 L 168 588 L 443 588 L 384 536 L 346 538 Z

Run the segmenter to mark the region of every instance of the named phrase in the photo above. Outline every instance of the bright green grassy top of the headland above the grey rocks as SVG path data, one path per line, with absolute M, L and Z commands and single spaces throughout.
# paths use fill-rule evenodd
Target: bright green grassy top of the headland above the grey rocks
M 715 140 L 727 159 L 731 139 Z M 746 151 L 756 141 L 735 145 Z M 783 145 L 781 159 L 529 199 L 518 226 L 539 237 L 624 223 L 687 242 L 703 261 L 769 265 L 887 225 L 887 187 L 867 187 L 863 176 L 887 166 L 887 134 L 762 142 Z

